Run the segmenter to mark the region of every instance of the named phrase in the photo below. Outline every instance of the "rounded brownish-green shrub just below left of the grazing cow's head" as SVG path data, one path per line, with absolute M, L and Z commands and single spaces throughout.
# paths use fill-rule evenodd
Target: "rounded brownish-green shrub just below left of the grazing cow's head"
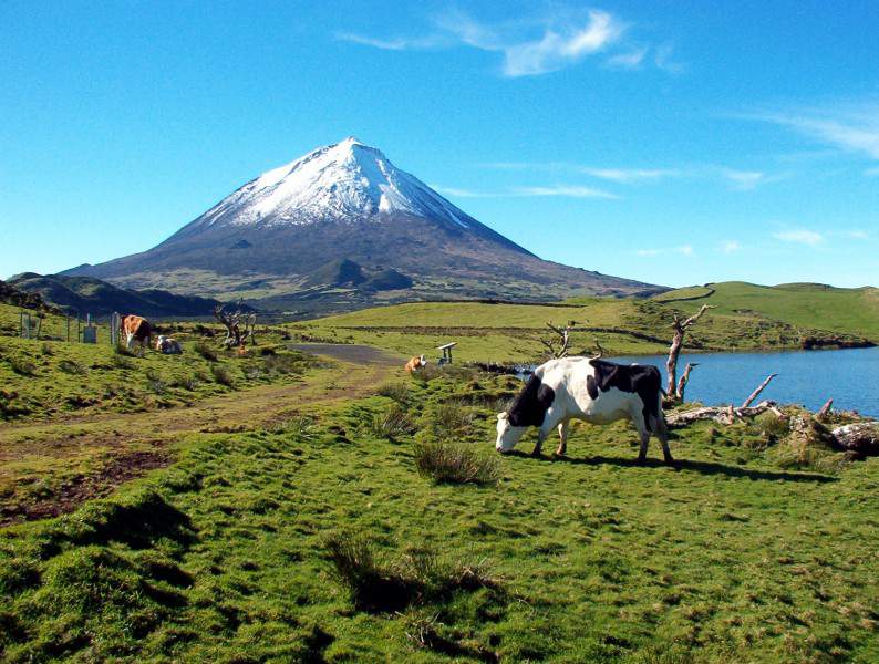
M 497 484 L 500 464 L 472 446 L 444 442 L 415 444 L 415 467 L 422 477 L 437 483 Z

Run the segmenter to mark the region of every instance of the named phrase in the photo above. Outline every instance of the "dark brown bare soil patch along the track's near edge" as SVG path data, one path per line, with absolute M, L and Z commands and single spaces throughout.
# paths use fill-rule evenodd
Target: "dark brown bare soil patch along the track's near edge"
M 172 461 L 172 454 L 162 448 L 116 454 L 97 473 L 66 479 L 49 497 L 28 504 L 1 506 L 0 527 L 72 512 L 86 500 L 108 496 L 121 484 L 149 470 L 164 468 Z

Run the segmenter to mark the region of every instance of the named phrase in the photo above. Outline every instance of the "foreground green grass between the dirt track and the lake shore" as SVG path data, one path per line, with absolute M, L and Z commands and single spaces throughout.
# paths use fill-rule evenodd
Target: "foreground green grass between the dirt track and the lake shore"
M 798 471 L 744 424 L 679 433 L 676 471 L 634 465 L 622 425 L 495 457 L 515 387 L 462 374 L 187 434 L 174 466 L 0 531 L 0 660 L 879 658 L 875 461 Z M 432 440 L 499 481 L 421 476 Z

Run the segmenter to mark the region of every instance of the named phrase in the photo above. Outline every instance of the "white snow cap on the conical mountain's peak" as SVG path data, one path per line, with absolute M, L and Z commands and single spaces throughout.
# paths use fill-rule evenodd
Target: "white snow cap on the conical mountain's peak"
M 359 221 L 391 212 L 469 227 L 465 212 L 354 136 L 263 173 L 194 226 L 298 226 Z

